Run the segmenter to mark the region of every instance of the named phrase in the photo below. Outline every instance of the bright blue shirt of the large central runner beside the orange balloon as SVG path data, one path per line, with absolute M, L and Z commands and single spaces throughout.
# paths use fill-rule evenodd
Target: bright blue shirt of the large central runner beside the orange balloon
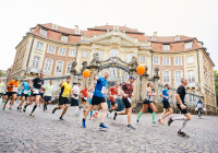
M 108 84 L 108 81 L 105 80 L 105 78 L 100 76 L 97 81 L 95 92 L 94 92 L 94 96 L 104 97 L 105 94 L 106 94 L 107 84 Z

